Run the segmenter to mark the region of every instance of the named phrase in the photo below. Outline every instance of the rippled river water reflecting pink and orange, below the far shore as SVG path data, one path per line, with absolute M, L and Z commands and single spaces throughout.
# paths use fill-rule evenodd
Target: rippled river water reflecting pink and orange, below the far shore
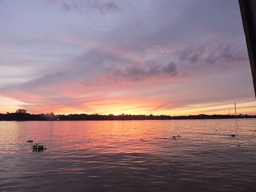
M 0 121 L 0 191 L 255 191 L 253 130 L 256 119 Z

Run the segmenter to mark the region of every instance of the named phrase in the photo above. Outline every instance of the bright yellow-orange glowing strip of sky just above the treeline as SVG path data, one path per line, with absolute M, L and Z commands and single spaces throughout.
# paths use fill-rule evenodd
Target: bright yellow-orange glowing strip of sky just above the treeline
M 2 98 L 3 99 L 3 98 Z M 14 102 L 12 100 L 12 102 Z M 4 106 L 4 109 L 12 109 L 10 113 L 14 113 L 17 109 L 20 109 L 22 107 L 20 106 L 26 106 L 26 103 L 22 103 L 19 101 L 16 101 L 17 105 L 12 106 Z M 102 102 L 101 102 L 102 103 Z M 91 103 L 91 105 L 98 105 L 101 103 Z M 247 103 L 236 103 L 237 105 L 237 114 L 248 114 L 248 115 L 256 115 L 256 107 L 254 106 L 254 102 L 247 102 Z M 88 104 L 90 105 L 90 103 Z M 118 105 L 118 103 L 116 104 Z M 108 107 L 111 106 L 110 112 L 108 112 Z M 103 115 L 108 115 L 108 114 L 114 114 L 114 115 L 120 115 L 120 114 L 153 114 L 153 115 L 169 115 L 169 116 L 188 116 L 188 115 L 198 115 L 198 114 L 207 114 L 207 115 L 212 115 L 212 114 L 235 114 L 234 110 L 234 104 L 229 104 L 229 105 L 219 105 L 219 106 L 214 106 L 214 103 L 209 103 L 206 105 L 197 105 L 197 106 L 187 106 L 182 109 L 174 109 L 174 110 L 165 110 L 165 109 L 160 109 L 157 112 L 155 111 L 150 111 L 146 109 L 150 109 L 151 106 L 132 106 L 132 105 L 125 105 L 125 106 L 113 106 L 112 104 L 104 105 L 104 108 L 99 109 L 97 111 L 88 111 L 88 110 L 78 110 L 74 108 L 63 108 L 63 106 L 59 106 L 60 110 L 56 110 L 55 108 L 50 108 L 49 109 L 44 109 L 41 111 L 42 108 L 37 109 L 37 107 L 34 107 L 34 113 L 33 114 L 41 114 L 41 113 L 51 113 L 53 112 L 54 114 L 103 114 Z M 123 109 L 128 109 L 128 110 L 123 110 Z M 130 109 L 129 109 L 130 108 Z M 135 110 L 133 108 L 140 108 L 137 110 L 137 113 L 134 113 Z M 25 108 L 24 108 L 25 109 Z M 97 108 L 96 108 L 97 109 Z M 101 112 L 104 111 L 104 112 Z M 32 113 L 30 110 L 27 110 L 27 113 Z

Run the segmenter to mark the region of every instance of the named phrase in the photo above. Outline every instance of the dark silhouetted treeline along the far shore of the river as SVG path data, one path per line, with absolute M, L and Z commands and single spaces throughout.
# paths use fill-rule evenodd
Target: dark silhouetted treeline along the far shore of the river
M 17 110 L 18 111 L 18 110 Z M 253 115 L 189 115 L 189 116 L 167 116 L 160 115 L 99 115 L 99 114 L 69 114 L 69 115 L 54 115 L 47 114 L 30 114 L 25 112 L 15 112 L 0 114 L 0 121 L 94 121 L 94 120 L 178 120 L 178 119 L 228 119 L 228 118 L 256 118 Z

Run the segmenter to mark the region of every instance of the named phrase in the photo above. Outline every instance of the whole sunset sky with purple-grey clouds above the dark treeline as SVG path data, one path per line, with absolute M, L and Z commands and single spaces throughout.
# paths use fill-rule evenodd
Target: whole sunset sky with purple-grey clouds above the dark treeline
M 236 0 L 0 0 L 0 113 L 256 114 Z

